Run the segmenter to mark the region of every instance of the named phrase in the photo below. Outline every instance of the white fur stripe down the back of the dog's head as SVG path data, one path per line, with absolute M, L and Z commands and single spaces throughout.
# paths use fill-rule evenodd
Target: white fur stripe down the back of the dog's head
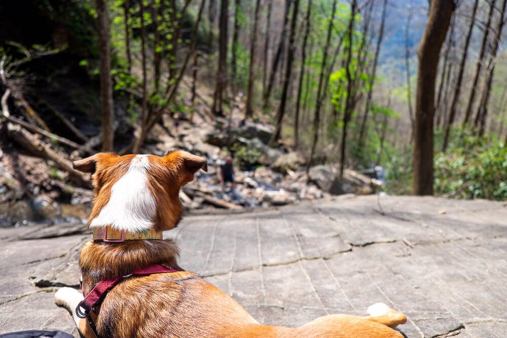
M 137 155 L 130 161 L 125 175 L 111 187 L 109 201 L 90 222 L 90 228 L 111 226 L 137 233 L 154 227 L 157 204 L 148 187 L 149 168 L 147 155 Z

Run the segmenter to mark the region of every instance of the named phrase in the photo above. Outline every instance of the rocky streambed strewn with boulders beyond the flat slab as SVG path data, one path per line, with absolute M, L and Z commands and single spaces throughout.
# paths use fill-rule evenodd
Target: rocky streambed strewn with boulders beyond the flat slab
M 166 118 L 167 120 L 167 118 Z M 170 121 L 164 122 L 166 126 Z M 182 121 L 177 136 L 155 128 L 145 154 L 163 156 L 184 149 L 208 159 L 208 172 L 200 171 L 184 187 L 180 198 L 187 210 L 257 208 L 315 200 L 329 195 L 372 194 L 375 179 L 348 170 L 339 175 L 335 164 L 317 165 L 306 172 L 306 159 L 297 152 L 268 145 L 271 129 L 262 123 L 228 121 L 198 126 Z M 16 149 L 0 154 L 0 226 L 33 223 L 83 223 L 92 205 L 92 191 L 76 187 L 69 173 L 51 160 Z M 234 159 L 234 184 L 222 186 L 219 165 Z

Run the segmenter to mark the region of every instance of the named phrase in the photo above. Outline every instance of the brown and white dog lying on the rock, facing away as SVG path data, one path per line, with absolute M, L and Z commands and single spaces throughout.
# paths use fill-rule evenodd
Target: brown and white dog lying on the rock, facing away
M 129 235 L 121 243 L 94 236 L 84 245 L 79 264 L 85 295 L 101 280 L 140 268 L 178 267 L 176 244 L 158 238 L 179 222 L 183 210 L 179 189 L 200 168 L 206 170 L 205 159 L 183 151 L 164 157 L 100 153 L 74 162 L 74 168 L 93 174 L 95 200 L 89 227 L 94 233 L 107 229 Z M 155 236 L 146 237 L 147 233 Z M 55 294 L 55 303 L 73 314 L 81 334 L 94 337 L 86 319 L 75 314 L 82 300 L 81 292 L 72 288 L 61 288 Z M 368 317 L 324 316 L 296 328 L 262 325 L 197 274 L 178 271 L 124 278 L 92 316 L 101 337 L 403 336 L 391 327 L 405 323 L 404 314 L 382 303 L 368 312 Z

